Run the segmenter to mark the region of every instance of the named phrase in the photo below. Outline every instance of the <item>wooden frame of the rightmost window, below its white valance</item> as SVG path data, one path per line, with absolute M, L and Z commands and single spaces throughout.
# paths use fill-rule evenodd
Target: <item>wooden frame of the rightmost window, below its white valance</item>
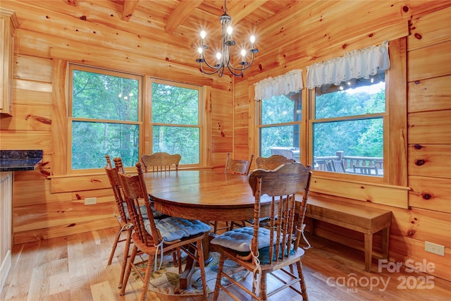
M 383 187 L 407 187 L 407 38 L 401 37 L 389 41 L 390 68 L 385 71 L 385 115 L 383 121 L 383 178 L 346 175 L 314 171 L 314 177 L 339 180 L 340 188 L 354 187 L 352 183 L 374 183 Z M 313 136 L 311 127 L 310 94 L 307 90 L 307 161 L 313 160 Z M 311 164 L 311 163 L 309 163 Z M 349 184 L 348 184 L 349 183 Z M 316 183 L 313 190 L 327 192 L 330 190 L 328 180 Z M 347 195 L 347 194 L 345 194 Z

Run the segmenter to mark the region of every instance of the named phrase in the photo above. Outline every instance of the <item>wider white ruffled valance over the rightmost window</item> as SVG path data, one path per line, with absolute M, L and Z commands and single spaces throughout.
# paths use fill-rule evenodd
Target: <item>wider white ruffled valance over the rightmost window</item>
M 321 63 L 307 67 L 306 86 L 309 89 L 322 85 L 340 85 L 344 80 L 352 78 L 369 78 L 378 70 L 390 68 L 388 57 L 388 41 L 379 46 L 358 49 Z

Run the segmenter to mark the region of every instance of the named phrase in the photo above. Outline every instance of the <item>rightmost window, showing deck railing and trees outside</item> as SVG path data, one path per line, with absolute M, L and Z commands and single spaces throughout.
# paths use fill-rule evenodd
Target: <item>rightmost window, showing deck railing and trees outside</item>
M 316 87 L 311 109 L 314 169 L 383 176 L 385 71 Z

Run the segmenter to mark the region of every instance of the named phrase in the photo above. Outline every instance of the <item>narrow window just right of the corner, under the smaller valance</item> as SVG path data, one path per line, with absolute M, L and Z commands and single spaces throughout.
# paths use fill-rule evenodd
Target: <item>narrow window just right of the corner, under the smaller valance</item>
M 302 116 L 300 92 L 273 96 L 259 102 L 260 156 L 282 154 L 299 161 L 299 121 Z

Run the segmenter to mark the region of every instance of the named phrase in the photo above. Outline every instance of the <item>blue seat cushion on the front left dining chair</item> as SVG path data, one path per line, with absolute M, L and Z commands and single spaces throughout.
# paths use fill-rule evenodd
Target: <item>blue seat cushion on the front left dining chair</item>
M 144 221 L 144 226 L 147 232 L 151 233 L 149 220 Z M 206 223 L 202 223 L 202 221 L 180 219 L 175 216 L 155 220 L 155 226 L 159 229 L 161 236 L 166 241 L 180 240 L 191 235 L 209 232 L 212 229 Z

